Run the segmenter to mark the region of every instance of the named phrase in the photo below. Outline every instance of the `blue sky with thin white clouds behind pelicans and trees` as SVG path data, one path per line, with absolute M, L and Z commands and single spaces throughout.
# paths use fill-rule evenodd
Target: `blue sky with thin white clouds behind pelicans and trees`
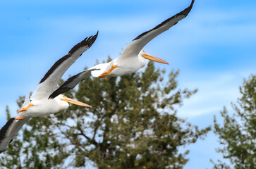
M 190 0 L 159 1 L 0 1 L 0 125 L 5 108 L 16 114 L 16 99 L 29 94 L 44 73 L 87 36 L 99 30 L 97 41 L 71 66 L 79 73 L 95 61 L 116 58 L 140 33 L 182 11 Z M 145 51 L 169 62 L 155 64 L 180 70 L 179 87 L 199 89 L 178 115 L 199 127 L 219 119 L 240 96 L 243 78 L 256 72 L 256 1 L 196 0 L 187 18 L 152 40 Z M 185 168 L 211 168 L 221 158 L 212 134 L 189 146 Z

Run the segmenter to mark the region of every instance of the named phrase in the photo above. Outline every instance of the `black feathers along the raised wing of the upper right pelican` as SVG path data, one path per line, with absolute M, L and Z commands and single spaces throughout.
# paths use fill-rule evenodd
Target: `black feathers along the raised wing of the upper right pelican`
M 156 27 L 154 27 L 152 30 L 156 30 L 157 28 L 163 26 L 164 24 L 168 23 L 170 20 L 173 20 L 173 18 L 178 17 L 179 15 L 185 15 L 185 17 L 188 15 L 188 13 L 190 13 L 193 4 L 194 4 L 195 0 L 191 1 L 190 6 L 188 6 L 188 8 L 185 8 L 183 11 L 181 11 L 180 13 L 177 13 L 176 15 L 173 15 L 171 18 L 164 20 L 164 22 L 160 23 L 159 25 L 157 25 Z M 177 23 L 175 23 L 176 25 Z M 148 30 L 147 32 L 143 32 L 141 35 L 139 35 L 138 37 L 136 37 L 135 39 L 133 39 L 133 41 L 140 39 L 141 37 L 143 37 L 144 35 L 146 35 L 148 32 L 151 32 L 152 30 Z

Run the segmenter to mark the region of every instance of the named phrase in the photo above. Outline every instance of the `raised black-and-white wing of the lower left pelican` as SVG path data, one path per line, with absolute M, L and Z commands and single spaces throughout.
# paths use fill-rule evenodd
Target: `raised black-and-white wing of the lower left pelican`
M 82 42 L 73 46 L 66 56 L 63 56 L 59 61 L 56 61 L 39 82 L 37 89 L 33 92 L 30 99 L 48 98 L 49 95 L 57 89 L 62 75 L 83 54 L 83 52 L 87 51 L 87 49 L 92 46 L 97 39 L 97 35 L 98 32 L 94 36 L 86 37 Z

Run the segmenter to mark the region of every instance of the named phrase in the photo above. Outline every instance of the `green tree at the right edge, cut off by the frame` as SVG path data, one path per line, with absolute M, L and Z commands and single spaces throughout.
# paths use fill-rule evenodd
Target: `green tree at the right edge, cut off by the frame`
M 224 125 L 217 123 L 214 117 L 214 132 L 224 145 L 221 152 L 234 168 L 256 168 L 256 76 L 251 75 L 240 87 L 241 98 L 238 104 L 232 104 L 234 113 L 228 115 L 224 108 L 221 112 Z M 231 168 L 219 161 L 214 168 Z

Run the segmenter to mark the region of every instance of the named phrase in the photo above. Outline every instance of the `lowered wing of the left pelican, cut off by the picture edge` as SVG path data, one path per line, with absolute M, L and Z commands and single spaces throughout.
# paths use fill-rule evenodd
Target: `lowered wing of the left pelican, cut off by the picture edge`
M 15 118 L 8 120 L 6 125 L 0 130 L 0 154 L 6 149 L 6 146 L 13 141 L 21 127 L 30 120 L 30 118 L 23 118 L 23 120 L 16 121 Z

